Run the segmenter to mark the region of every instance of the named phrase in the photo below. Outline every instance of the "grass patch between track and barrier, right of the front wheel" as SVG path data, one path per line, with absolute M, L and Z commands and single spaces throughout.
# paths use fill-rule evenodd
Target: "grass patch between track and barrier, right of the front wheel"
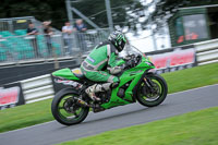
M 218 83 L 218 63 L 201 65 L 162 74 L 169 93 L 175 93 Z

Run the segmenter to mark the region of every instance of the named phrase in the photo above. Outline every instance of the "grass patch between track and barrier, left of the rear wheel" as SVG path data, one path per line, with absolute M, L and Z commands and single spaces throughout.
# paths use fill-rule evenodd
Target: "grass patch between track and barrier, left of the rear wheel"
M 0 110 L 0 132 L 21 129 L 53 120 L 51 99 Z

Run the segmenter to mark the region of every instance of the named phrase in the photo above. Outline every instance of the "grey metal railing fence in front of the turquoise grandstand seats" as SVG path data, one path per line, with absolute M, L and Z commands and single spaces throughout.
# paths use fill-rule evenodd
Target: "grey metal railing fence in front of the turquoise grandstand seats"
M 21 60 L 49 59 L 85 53 L 100 41 L 107 39 L 109 29 L 74 32 L 69 39 L 62 34 L 26 35 L 25 29 L 14 33 L 0 32 L 0 62 L 17 62 Z

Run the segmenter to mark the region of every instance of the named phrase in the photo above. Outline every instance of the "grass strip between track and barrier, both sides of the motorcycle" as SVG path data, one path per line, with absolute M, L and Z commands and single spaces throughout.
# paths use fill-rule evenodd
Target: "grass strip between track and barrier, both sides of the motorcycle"
M 162 74 L 169 93 L 218 83 L 218 63 Z M 21 129 L 53 120 L 51 99 L 0 110 L 0 132 Z

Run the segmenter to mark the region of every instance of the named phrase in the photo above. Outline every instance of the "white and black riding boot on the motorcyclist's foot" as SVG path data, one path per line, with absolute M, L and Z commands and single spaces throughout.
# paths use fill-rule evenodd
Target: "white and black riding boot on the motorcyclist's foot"
M 95 93 L 99 92 L 106 92 L 109 90 L 111 86 L 111 83 L 105 83 L 105 84 L 94 84 L 85 89 L 86 94 L 93 99 L 99 101 L 100 98 L 98 98 Z

